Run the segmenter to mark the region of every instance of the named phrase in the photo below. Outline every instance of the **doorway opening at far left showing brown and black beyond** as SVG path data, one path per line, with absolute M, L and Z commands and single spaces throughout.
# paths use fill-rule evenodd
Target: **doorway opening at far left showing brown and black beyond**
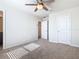
M 0 50 L 3 48 L 3 11 L 0 11 Z

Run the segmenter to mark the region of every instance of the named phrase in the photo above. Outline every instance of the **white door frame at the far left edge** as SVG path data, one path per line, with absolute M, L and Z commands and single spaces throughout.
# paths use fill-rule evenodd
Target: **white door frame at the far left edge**
M 6 13 L 4 9 L 0 9 L 3 12 L 3 46 L 2 49 L 6 49 Z

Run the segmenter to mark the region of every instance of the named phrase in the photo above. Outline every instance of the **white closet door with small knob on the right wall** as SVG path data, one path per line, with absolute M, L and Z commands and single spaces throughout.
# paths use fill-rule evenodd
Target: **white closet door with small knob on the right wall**
M 56 16 L 56 29 L 58 43 L 70 44 L 71 41 L 71 21 L 69 16 Z

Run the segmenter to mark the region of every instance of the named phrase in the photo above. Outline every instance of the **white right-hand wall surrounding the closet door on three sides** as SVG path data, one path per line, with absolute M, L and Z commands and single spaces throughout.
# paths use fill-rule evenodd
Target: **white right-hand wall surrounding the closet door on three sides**
M 57 34 L 55 33 L 55 21 L 53 19 L 56 18 L 56 15 L 67 15 L 70 17 L 71 20 L 71 45 L 79 46 L 79 7 L 71 8 L 71 9 L 65 9 L 63 11 L 59 12 L 52 12 L 49 16 L 49 38 L 50 41 L 57 41 L 55 38 L 57 38 Z M 54 31 L 54 32 L 52 32 Z M 54 36 L 54 37 L 53 37 Z

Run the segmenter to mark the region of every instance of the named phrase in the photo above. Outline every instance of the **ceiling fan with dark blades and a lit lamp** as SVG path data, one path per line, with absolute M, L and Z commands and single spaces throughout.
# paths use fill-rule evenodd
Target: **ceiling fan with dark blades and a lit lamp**
M 46 5 L 43 3 L 43 0 L 36 0 L 36 4 L 25 4 L 26 6 L 36 6 L 34 12 L 36 12 L 39 9 L 44 9 L 46 11 L 48 11 L 48 8 L 46 7 Z

